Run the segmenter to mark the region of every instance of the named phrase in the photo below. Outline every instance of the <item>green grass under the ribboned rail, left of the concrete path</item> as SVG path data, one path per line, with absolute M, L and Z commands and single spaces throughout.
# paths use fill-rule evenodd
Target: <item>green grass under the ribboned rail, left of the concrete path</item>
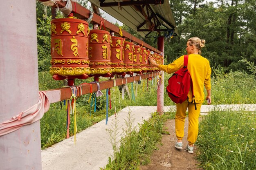
M 104 119 L 104 117 L 106 117 L 105 114 L 101 114 L 98 117 L 91 117 L 82 107 L 77 107 L 76 123 L 78 132 L 92 126 L 98 121 Z M 44 117 L 40 119 L 42 149 L 56 144 L 66 138 L 66 121 L 66 106 L 59 102 L 51 104 L 49 111 L 47 111 Z M 72 136 L 74 135 L 74 115 L 70 115 L 70 121 L 71 124 L 69 132 L 70 136 Z

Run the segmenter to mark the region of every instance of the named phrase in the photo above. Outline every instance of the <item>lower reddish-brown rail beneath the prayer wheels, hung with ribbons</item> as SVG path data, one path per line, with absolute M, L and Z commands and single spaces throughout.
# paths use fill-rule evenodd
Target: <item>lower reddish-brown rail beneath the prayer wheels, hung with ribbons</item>
M 127 84 L 130 82 L 134 82 L 134 81 L 137 82 L 140 79 L 147 79 L 150 77 L 154 77 L 159 74 L 160 74 L 159 72 L 155 72 L 155 73 L 144 74 L 144 75 L 136 75 L 133 77 L 109 79 L 106 81 L 99 82 L 100 90 L 114 87 L 114 81 L 116 82 L 116 86 L 121 86 L 123 84 Z M 92 91 L 92 93 L 98 91 L 96 83 L 92 83 L 92 90 L 91 90 L 90 84 L 80 84 L 80 85 L 77 85 L 76 87 L 78 87 L 78 86 L 81 86 L 81 91 L 82 91 L 81 95 L 91 93 L 91 91 Z M 70 97 L 72 96 L 72 90 L 70 87 L 51 89 L 51 90 L 45 91 L 45 93 L 47 94 L 50 103 L 55 103 L 55 102 L 60 102 L 62 100 L 70 99 Z M 79 94 L 79 96 L 80 96 L 80 94 Z

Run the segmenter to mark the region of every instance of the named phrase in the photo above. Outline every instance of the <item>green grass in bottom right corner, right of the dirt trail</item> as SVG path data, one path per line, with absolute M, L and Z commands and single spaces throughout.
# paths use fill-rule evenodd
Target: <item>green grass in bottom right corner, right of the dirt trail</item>
M 206 170 L 253 170 L 256 167 L 256 112 L 220 112 L 200 122 L 198 159 Z

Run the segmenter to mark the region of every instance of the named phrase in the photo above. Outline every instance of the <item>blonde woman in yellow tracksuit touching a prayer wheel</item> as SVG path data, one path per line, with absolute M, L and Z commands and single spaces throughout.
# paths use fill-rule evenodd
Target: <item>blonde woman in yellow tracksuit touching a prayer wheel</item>
M 206 100 L 208 99 L 209 101 L 207 104 L 211 104 L 211 67 L 209 60 L 200 55 L 201 48 L 204 47 L 204 43 L 205 40 L 200 40 L 198 37 L 193 37 L 190 38 L 186 44 L 186 51 L 189 55 L 188 70 L 193 81 L 197 110 L 195 110 L 194 104 L 189 103 L 192 101 L 191 89 L 189 90 L 188 94 L 189 102 L 185 101 L 182 104 L 176 104 L 177 111 L 175 116 L 175 132 L 177 142 L 175 143 L 175 147 L 177 149 L 182 149 L 186 110 L 189 108 L 189 130 L 187 138 L 189 144 L 186 146 L 186 150 L 188 150 L 189 153 L 193 153 L 193 144 L 198 137 L 198 117 L 200 115 L 200 108 L 204 101 L 204 86 L 207 90 Z M 149 56 L 149 61 L 152 65 L 156 66 L 160 70 L 171 74 L 183 67 L 184 55 L 168 65 L 157 64 L 151 55 Z

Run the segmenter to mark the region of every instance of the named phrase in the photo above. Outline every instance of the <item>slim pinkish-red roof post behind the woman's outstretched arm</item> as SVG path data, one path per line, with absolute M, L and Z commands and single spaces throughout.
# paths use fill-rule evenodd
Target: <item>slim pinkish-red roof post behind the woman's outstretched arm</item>
M 157 49 L 163 52 L 164 56 L 164 36 L 157 38 Z M 164 71 L 161 71 L 161 79 L 157 88 L 157 112 L 162 115 L 164 113 Z

